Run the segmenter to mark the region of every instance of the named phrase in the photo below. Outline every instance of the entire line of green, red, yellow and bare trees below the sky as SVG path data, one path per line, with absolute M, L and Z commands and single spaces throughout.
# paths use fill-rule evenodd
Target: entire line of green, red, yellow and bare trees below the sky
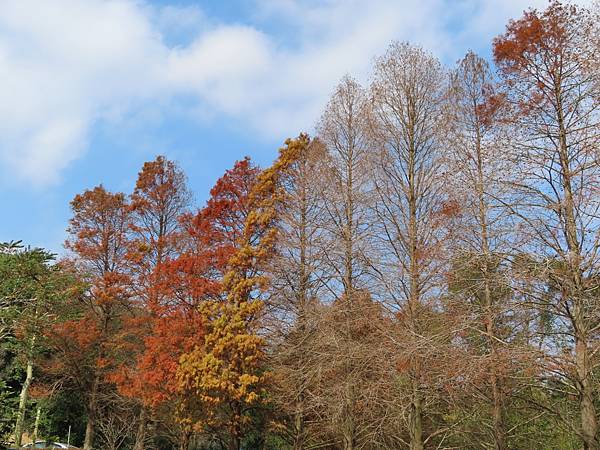
M 101 449 L 599 449 L 600 10 L 392 43 L 196 209 L 182 168 L 0 248 L 0 431 Z

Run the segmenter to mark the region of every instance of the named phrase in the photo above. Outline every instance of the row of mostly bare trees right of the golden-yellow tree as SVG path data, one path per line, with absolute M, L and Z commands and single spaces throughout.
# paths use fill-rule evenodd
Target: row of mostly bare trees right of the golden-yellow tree
M 266 332 L 293 448 L 600 448 L 597 13 L 495 69 L 394 43 L 286 179 Z

